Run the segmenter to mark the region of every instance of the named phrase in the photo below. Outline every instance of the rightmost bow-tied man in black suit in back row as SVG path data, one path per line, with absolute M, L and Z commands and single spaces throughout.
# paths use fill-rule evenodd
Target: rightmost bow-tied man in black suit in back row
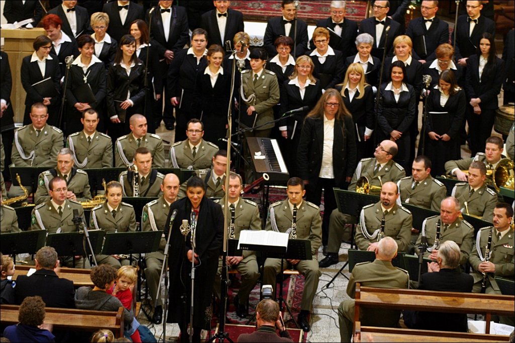
M 479 46 L 479 38 L 485 32 L 495 36 L 495 23 L 481 15 L 481 1 L 467 1 L 467 14 L 460 15 L 456 23 L 456 58 L 462 67 L 467 66 L 467 59 L 474 55 Z M 454 43 L 454 34 L 451 36 Z

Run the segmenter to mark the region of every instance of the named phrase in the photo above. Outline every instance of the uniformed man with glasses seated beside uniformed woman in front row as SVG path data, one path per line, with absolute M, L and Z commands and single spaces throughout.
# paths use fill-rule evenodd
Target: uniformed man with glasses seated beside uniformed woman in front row
M 50 199 L 32 209 L 30 229 L 46 230 L 47 233 L 76 232 L 83 230 L 85 225 L 84 210 L 76 201 L 67 199 L 68 189 L 66 181 L 56 176 L 48 182 L 48 194 Z M 73 211 L 77 210 L 82 219 L 80 224 L 75 224 Z M 78 226 L 78 227 L 77 227 Z M 61 265 L 89 268 L 87 259 L 79 256 L 59 257 Z

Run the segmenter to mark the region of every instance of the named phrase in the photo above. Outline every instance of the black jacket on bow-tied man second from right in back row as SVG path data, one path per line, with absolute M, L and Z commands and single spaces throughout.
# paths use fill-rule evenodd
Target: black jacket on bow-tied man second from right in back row
M 414 46 L 412 50 L 414 59 L 434 60 L 436 59 L 435 50 L 438 45 L 449 43 L 449 24 L 435 16 L 428 30 L 425 27 L 424 17 L 421 16 L 409 22 L 406 35 L 411 38 L 411 41 L 421 39 L 420 37 L 425 38 L 427 55 L 424 55 L 422 50 L 415 49 Z

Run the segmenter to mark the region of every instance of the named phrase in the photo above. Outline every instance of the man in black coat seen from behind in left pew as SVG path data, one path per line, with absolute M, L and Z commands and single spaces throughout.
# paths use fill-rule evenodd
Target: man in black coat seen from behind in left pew
M 31 276 L 19 275 L 14 288 L 15 303 L 29 296 L 40 296 L 50 308 L 73 309 L 75 289 L 73 281 L 60 278 L 54 270 L 59 267 L 57 252 L 44 246 L 36 253 L 36 272 Z

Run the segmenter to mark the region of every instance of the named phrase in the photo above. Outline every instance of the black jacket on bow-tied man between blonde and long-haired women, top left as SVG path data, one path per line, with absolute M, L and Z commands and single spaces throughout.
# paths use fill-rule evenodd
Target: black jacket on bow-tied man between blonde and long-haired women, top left
M 129 9 L 127 10 L 125 24 L 122 24 L 122 20 L 120 19 L 117 1 L 105 4 L 104 10 L 102 10 L 102 12 L 105 12 L 107 15 L 109 15 L 109 27 L 107 28 L 107 33 L 109 33 L 111 38 L 114 38 L 116 42 L 119 42 L 123 35 L 129 34 L 130 23 L 136 19 L 145 19 L 145 11 L 143 10 L 143 6 L 135 1 L 129 2 Z

